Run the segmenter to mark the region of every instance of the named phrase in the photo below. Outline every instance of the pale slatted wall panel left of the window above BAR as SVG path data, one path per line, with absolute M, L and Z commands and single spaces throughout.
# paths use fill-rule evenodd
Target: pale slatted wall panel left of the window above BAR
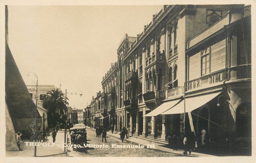
M 200 67 L 200 56 L 201 52 L 189 57 L 189 79 L 193 80 L 200 77 L 201 67 Z

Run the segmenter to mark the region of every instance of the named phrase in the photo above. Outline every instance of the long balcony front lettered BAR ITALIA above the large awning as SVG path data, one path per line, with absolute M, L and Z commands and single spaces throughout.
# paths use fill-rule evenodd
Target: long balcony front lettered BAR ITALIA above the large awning
M 190 80 L 186 83 L 187 90 L 193 91 L 204 89 L 223 84 L 224 81 L 232 81 L 236 79 L 250 79 L 252 78 L 252 65 L 240 65 L 201 76 L 200 78 Z

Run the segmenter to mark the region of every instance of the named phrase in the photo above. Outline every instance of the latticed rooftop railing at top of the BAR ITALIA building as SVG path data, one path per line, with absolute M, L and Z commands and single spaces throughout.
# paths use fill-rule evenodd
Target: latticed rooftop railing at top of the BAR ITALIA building
M 206 39 L 210 35 L 222 29 L 225 25 L 228 25 L 229 23 L 235 22 L 237 20 L 240 20 L 241 18 L 245 18 L 250 15 L 251 15 L 251 5 L 245 6 L 242 10 L 240 9 L 238 11 L 229 12 L 228 15 L 224 16 L 222 19 L 220 19 L 215 24 L 213 24 L 211 27 L 206 28 L 203 32 L 191 38 L 188 41 L 188 47 L 192 47 L 196 43 L 201 42 L 202 40 Z

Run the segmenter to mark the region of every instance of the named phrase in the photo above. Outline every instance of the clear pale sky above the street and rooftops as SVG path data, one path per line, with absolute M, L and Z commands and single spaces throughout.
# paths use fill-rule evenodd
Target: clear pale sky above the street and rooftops
M 125 33 L 137 36 L 160 5 L 8 6 L 9 47 L 27 85 L 55 85 L 82 109 L 102 91 Z M 81 93 L 82 96 L 72 93 Z

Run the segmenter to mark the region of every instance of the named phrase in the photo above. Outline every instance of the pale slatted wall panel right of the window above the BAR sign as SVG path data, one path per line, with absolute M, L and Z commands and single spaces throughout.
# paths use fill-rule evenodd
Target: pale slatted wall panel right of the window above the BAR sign
M 211 73 L 225 68 L 226 57 L 226 40 L 211 46 Z

